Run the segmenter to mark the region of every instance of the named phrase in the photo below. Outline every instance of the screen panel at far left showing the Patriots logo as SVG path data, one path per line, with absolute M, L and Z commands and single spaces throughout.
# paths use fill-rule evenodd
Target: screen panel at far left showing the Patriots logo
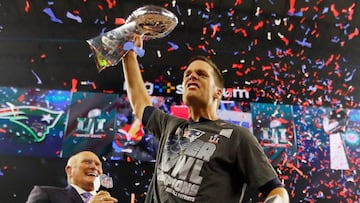
M 71 92 L 0 87 L 0 154 L 60 157 Z

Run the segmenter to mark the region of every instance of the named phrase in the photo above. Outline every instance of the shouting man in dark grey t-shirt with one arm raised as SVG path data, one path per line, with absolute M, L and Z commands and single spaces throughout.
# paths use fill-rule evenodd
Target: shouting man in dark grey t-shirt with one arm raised
M 142 47 L 139 36 L 135 45 Z M 195 57 L 184 72 L 189 120 L 151 106 L 134 50 L 123 58 L 123 70 L 136 116 L 160 140 L 147 202 L 239 202 L 248 184 L 265 202 L 289 202 L 256 138 L 217 116 L 224 82 L 211 60 Z

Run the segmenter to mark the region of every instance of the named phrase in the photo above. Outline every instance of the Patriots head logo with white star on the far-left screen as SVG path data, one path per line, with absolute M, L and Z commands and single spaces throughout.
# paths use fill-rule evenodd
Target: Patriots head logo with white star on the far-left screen
M 0 133 L 30 135 L 34 142 L 43 141 L 64 113 L 38 106 L 8 105 L 8 108 L 0 108 L 0 121 L 5 122 L 0 126 Z

